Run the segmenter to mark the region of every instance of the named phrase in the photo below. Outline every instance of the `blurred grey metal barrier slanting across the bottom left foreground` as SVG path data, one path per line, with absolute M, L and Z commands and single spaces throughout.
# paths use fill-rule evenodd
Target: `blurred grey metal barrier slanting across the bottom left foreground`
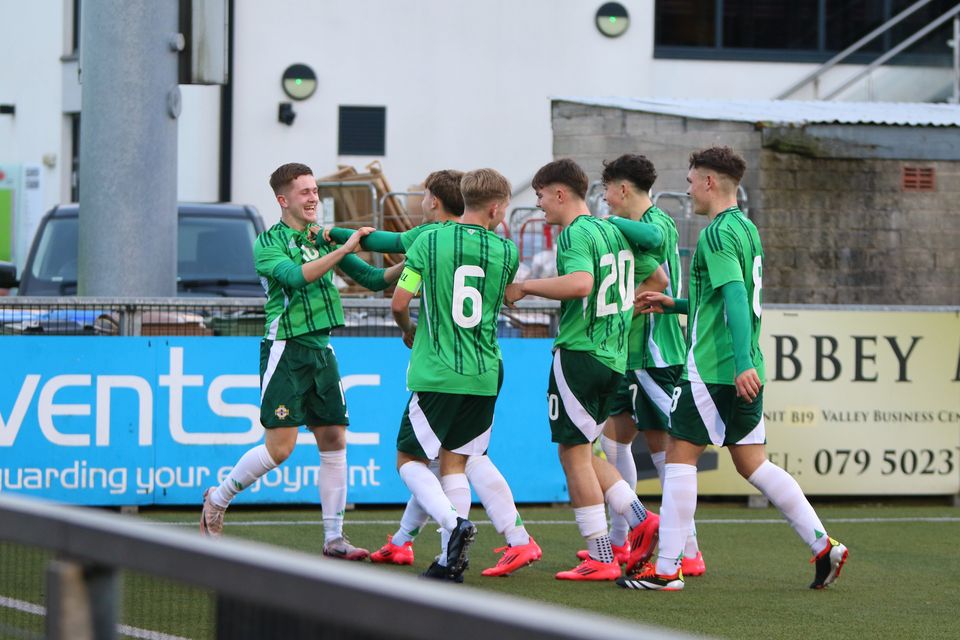
M 689 637 L 357 563 L 239 540 L 215 542 L 128 516 L 8 495 L 0 495 L 0 542 L 46 549 L 58 556 L 48 565 L 45 603 L 24 601 L 16 593 L 0 594 L 0 608 L 16 602 L 24 605 L 21 610 L 45 615 L 48 638 L 117 637 L 121 569 L 216 594 L 216 636 L 223 638 Z M 126 595 L 127 601 L 137 596 Z M 245 614 L 245 630 L 237 628 L 238 611 Z M 120 631 L 127 635 L 130 630 Z M 159 631 L 136 632 L 136 637 L 172 638 Z

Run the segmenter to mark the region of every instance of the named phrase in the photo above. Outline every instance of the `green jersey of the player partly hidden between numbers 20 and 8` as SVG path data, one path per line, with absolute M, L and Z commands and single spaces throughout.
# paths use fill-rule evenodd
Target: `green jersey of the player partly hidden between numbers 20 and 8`
M 641 222 L 653 224 L 663 233 L 663 243 L 653 251 L 637 255 L 638 271 L 641 255 L 653 257 L 667 275 L 666 294 L 681 297 L 680 251 L 677 248 L 677 225 L 673 218 L 653 206 L 647 209 Z M 639 274 L 638 274 L 639 277 Z M 639 284 L 639 281 L 637 282 Z M 683 364 L 686 345 L 677 315 L 641 314 L 634 316 L 630 327 L 630 347 L 627 367 L 630 369 L 662 369 Z

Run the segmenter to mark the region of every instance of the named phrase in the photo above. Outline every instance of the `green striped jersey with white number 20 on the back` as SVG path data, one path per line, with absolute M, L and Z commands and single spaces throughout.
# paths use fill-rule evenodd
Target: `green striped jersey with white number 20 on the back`
M 636 289 L 635 256 L 627 239 L 610 222 L 582 215 L 557 239 L 557 273 L 585 271 L 593 290 L 560 303 L 554 349 L 586 351 L 614 371 L 627 367 L 627 336 Z

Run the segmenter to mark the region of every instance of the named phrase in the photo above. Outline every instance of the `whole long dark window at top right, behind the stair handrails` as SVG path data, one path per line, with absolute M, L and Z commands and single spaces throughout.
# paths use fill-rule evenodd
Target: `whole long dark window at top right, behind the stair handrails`
M 915 0 L 657 0 L 654 56 L 824 62 Z M 933 0 L 864 45 L 849 62 L 872 61 L 952 8 Z M 899 64 L 949 65 L 952 22 L 896 56 Z

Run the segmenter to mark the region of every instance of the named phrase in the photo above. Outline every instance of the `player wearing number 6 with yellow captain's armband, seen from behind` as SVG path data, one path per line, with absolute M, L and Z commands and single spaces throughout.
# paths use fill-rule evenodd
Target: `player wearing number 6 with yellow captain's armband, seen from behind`
M 461 191 L 460 223 L 414 241 L 392 303 L 404 342 L 413 345 L 407 370 L 412 394 L 397 436 L 397 467 L 417 502 L 443 528 L 446 552 L 424 575 L 456 581 L 462 579 L 466 549 L 476 535 L 466 519 L 468 458 L 482 456 L 490 441 L 503 380 L 497 318 L 518 266 L 516 246 L 490 231 L 510 202 L 507 179 L 493 169 L 478 169 L 464 175 Z M 409 305 L 421 286 L 418 331 Z M 426 466 L 438 455 L 439 482 Z M 539 547 L 523 534 L 498 563 L 503 571 L 486 575 L 507 575 L 540 558 Z

